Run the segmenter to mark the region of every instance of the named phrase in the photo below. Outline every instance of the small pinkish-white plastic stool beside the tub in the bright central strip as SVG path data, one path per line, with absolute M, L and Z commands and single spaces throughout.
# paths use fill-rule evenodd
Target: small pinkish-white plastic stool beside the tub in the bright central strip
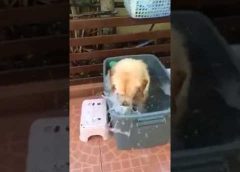
M 103 140 L 109 137 L 107 105 L 102 98 L 84 100 L 82 103 L 80 140 L 87 142 L 89 137 L 95 135 L 102 136 Z

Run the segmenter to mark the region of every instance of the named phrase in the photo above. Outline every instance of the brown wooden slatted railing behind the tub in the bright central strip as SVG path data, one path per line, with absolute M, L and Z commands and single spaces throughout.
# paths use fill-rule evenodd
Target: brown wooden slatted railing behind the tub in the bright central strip
M 92 19 L 70 20 L 70 31 L 87 29 L 112 28 L 122 26 L 137 26 L 146 24 L 168 23 L 169 17 L 156 19 L 136 20 L 129 17 L 106 17 Z M 95 35 L 87 37 L 70 38 L 70 47 L 84 47 L 89 45 L 119 44 L 136 41 L 149 41 L 154 43 L 146 46 L 121 47 L 111 46 L 108 49 L 94 49 L 85 52 L 70 52 L 70 84 L 86 84 L 102 82 L 102 62 L 107 57 L 151 53 L 156 54 L 166 65 L 170 63 L 170 30 L 144 31 L 130 34 Z M 81 61 L 97 60 L 95 64 L 83 65 Z M 81 74 L 86 74 L 81 77 Z M 97 76 L 88 74 L 98 73 Z

